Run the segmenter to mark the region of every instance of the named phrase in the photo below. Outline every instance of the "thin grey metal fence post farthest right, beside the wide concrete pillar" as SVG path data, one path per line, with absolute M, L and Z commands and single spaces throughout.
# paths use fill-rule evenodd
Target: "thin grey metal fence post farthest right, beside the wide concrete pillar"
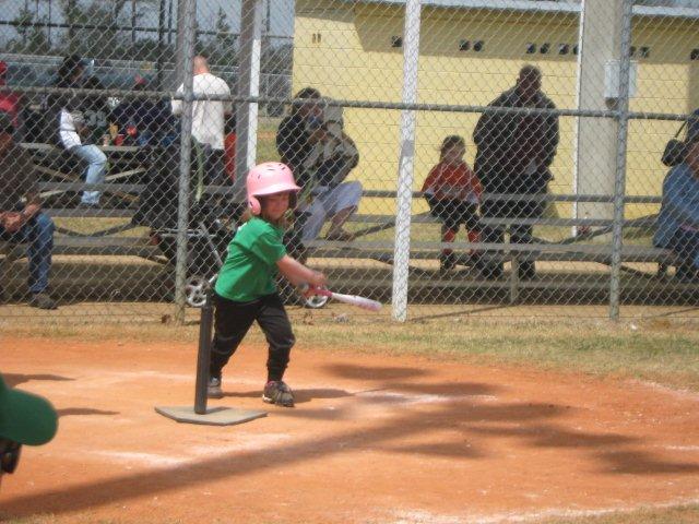
M 614 229 L 612 234 L 612 272 L 609 275 L 609 318 L 613 320 L 618 320 L 619 318 L 619 278 L 621 274 L 621 248 L 624 246 L 624 196 L 626 193 L 626 148 L 629 132 L 632 9 L 632 0 L 623 0 L 619 97 L 616 107 L 619 129 L 616 150 L 616 177 L 614 180 Z

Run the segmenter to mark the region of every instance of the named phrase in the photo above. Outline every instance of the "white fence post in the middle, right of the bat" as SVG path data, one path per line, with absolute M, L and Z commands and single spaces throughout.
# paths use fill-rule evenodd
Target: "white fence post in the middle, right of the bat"
M 403 27 L 403 103 L 417 102 L 417 62 L 419 58 L 420 0 L 405 2 Z M 415 110 L 401 111 L 401 152 L 395 211 L 395 247 L 393 251 L 393 319 L 407 319 L 408 263 L 411 255 L 411 209 L 415 163 Z

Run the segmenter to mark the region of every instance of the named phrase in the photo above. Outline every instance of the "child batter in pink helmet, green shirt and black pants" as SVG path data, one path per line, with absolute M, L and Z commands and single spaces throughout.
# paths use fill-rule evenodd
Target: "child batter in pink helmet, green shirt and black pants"
M 286 212 L 296 204 L 299 190 L 292 170 L 284 164 L 268 162 L 248 174 L 250 217 L 230 241 L 215 286 L 209 397 L 223 396 L 222 369 L 257 321 L 270 347 L 262 400 L 294 406 L 294 394 L 282 378 L 295 338 L 276 290 L 277 270 L 295 285 L 325 285 L 322 273 L 291 258 L 282 243 Z

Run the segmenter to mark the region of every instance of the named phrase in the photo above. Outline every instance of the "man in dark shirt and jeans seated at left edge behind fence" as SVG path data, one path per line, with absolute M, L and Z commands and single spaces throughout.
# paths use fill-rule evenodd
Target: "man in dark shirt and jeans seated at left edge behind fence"
M 0 238 L 29 243 L 29 306 L 56 309 L 47 291 L 54 223 L 42 213 L 38 174 L 29 154 L 14 142 L 12 131 L 10 117 L 0 115 Z

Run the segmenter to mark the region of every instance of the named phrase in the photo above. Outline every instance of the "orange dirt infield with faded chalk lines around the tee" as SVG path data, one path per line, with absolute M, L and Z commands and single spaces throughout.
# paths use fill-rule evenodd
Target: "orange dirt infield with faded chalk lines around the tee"
M 269 416 L 214 428 L 154 412 L 193 403 L 191 342 L 5 337 L 0 358 L 60 414 L 3 478 L 5 517 L 450 524 L 699 501 L 699 395 L 653 383 L 306 345 L 287 409 L 260 401 L 248 344 L 210 405 Z

